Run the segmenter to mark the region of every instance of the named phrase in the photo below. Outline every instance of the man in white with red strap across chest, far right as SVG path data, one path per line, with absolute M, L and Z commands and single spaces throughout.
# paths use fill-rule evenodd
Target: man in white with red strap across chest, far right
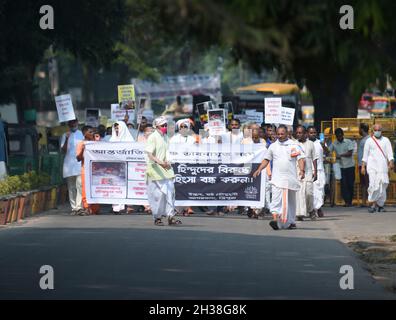
M 362 175 L 369 175 L 368 201 L 372 202 L 370 213 L 385 211 L 386 189 L 389 185 L 389 170 L 393 170 L 392 145 L 382 136 L 382 127 L 374 125 L 373 135 L 364 145 Z

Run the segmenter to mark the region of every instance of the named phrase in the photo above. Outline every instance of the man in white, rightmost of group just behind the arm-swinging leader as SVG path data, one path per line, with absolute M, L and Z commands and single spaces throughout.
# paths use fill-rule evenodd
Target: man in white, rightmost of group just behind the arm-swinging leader
M 324 204 L 324 196 L 325 196 L 325 186 L 326 186 L 326 174 L 324 171 L 323 164 L 323 147 L 320 143 L 320 140 L 317 138 L 318 133 L 316 128 L 311 126 L 308 127 L 308 138 L 314 143 L 316 154 L 318 156 L 317 161 L 317 179 L 314 181 L 314 210 L 318 217 L 323 217 L 322 206 Z

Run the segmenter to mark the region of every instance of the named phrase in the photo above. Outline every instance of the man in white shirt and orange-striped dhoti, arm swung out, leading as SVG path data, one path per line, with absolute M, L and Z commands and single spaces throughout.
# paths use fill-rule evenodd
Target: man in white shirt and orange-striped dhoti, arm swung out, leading
M 296 193 L 300 189 L 296 164 L 299 165 L 300 179 L 304 179 L 305 156 L 298 144 L 288 138 L 286 126 L 280 125 L 277 135 L 278 140 L 270 145 L 253 177 L 260 175 L 269 162 L 273 162 L 271 212 L 274 220 L 270 226 L 274 230 L 295 229 Z

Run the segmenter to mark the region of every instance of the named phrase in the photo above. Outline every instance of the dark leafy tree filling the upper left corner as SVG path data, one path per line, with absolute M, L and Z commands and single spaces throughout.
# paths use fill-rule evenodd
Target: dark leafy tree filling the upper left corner
M 55 29 L 39 27 L 42 4 L 3 0 L 0 4 L 0 101 L 15 102 L 19 119 L 33 108 L 33 78 L 45 51 L 66 50 L 88 66 L 109 65 L 125 20 L 124 1 L 47 1 Z

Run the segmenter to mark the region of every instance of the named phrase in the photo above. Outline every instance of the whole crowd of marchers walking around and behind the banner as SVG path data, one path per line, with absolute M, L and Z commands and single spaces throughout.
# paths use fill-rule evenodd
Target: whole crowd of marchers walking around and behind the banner
M 272 215 L 270 226 L 274 230 L 295 229 L 296 221 L 315 220 L 323 217 L 322 206 L 325 197 L 325 155 L 335 152 L 341 171 L 341 192 L 345 207 L 352 206 L 355 183 L 355 146 L 344 138 L 341 128 L 335 130 L 336 140 L 331 144 L 318 139 L 315 127 L 246 123 L 241 126 L 238 119 L 232 119 L 228 132 L 212 136 L 208 127 L 197 134 L 191 118 L 176 123 L 176 132 L 169 136 L 168 118 L 156 118 L 152 125 L 142 118 L 138 128 L 127 121 L 118 121 L 110 128 L 84 126 L 78 121 L 68 122 L 69 131 L 63 135 L 61 148 L 65 153 L 63 176 L 67 181 L 72 215 L 98 214 L 100 206 L 88 204 L 85 195 L 84 147 L 87 141 L 133 142 L 145 145 L 147 154 L 147 196 L 149 206 L 137 207 L 113 205 L 114 214 L 132 213 L 142 210 L 152 214 L 155 225 L 163 225 L 167 218 L 169 225 L 182 222 L 176 215 L 194 213 L 193 208 L 175 207 L 175 188 L 172 166 L 169 162 L 169 144 L 259 144 L 265 156 L 259 168 L 252 172 L 254 178 L 262 175 L 266 179 L 266 201 L 264 208 L 207 207 L 200 208 L 207 214 L 224 214 L 237 211 L 249 218 Z M 393 151 L 388 138 L 382 136 L 382 128 L 375 125 L 372 134 L 362 123 L 362 139 L 358 145 L 360 183 L 371 203 L 369 212 L 384 211 L 389 171 L 393 170 Z

